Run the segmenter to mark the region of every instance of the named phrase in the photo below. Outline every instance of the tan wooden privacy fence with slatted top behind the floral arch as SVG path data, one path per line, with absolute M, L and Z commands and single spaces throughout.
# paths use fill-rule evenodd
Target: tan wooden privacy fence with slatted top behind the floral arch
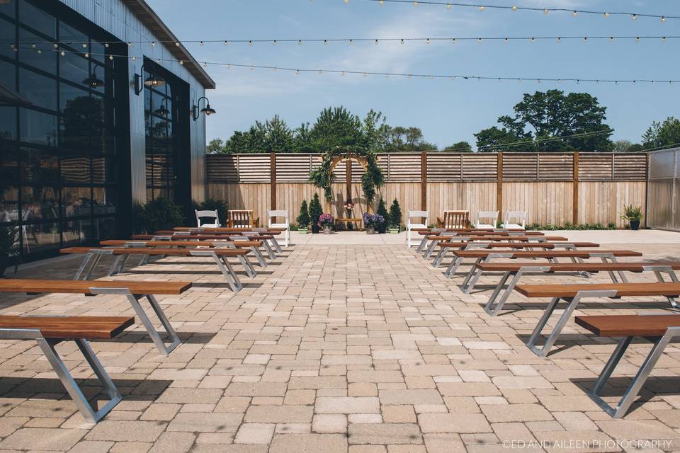
M 302 200 L 318 193 L 324 212 L 344 217 L 351 190 L 355 214 L 365 212 L 361 165 L 336 166 L 329 202 L 307 182 L 321 162 L 321 154 L 208 154 L 207 196 L 261 219 L 268 209 L 286 209 L 295 219 Z M 378 193 L 388 207 L 396 198 L 404 214 L 429 210 L 431 219 L 444 210 L 465 209 L 472 217 L 525 210 L 529 223 L 625 226 L 623 205 L 646 207 L 647 154 L 390 153 L 379 154 L 378 164 L 386 180 Z

